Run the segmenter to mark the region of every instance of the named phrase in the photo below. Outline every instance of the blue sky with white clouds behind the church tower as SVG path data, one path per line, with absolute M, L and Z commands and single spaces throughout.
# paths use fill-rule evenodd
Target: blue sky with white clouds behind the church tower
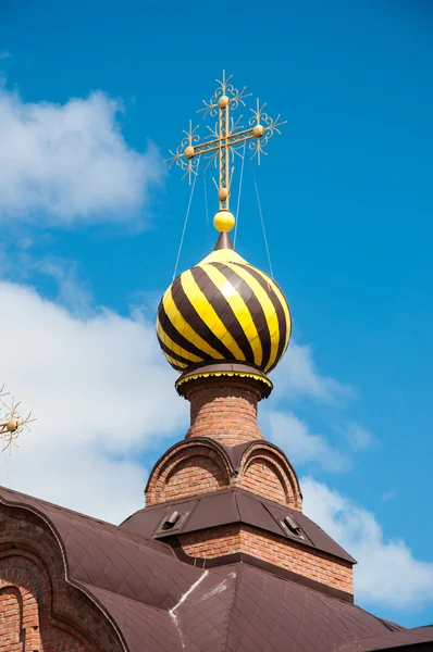
M 120 518 L 185 432 L 152 321 L 189 188 L 161 159 L 225 67 L 287 121 L 260 168 L 245 166 L 238 227 L 239 253 L 267 269 L 255 174 L 294 318 L 264 434 L 308 478 L 313 517 L 347 544 L 355 519 L 368 530 L 358 557 L 406 564 L 410 590 L 388 577 L 380 600 L 374 568 L 362 576 L 360 564 L 359 602 L 408 626 L 431 623 L 433 10 L 421 0 L 238 2 L 227 22 L 218 9 L 2 3 L 0 293 L 10 317 L 0 380 L 37 413 L 38 444 L 23 442 L 0 481 L 85 510 L 89 487 L 134 478 Z M 210 173 L 207 183 L 212 215 Z M 200 177 L 180 268 L 213 238 Z M 96 435 L 77 436 L 84 421 Z M 25 473 L 26 447 L 39 451 L 45 484 Z M 71 476 L 63 491 L 50 459 Z M 88 504 L 98 509 L 110 517 L 102 489 Z

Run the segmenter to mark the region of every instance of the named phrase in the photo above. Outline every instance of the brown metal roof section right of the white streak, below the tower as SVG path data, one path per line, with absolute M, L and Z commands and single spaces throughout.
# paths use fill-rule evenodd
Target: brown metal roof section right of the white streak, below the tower
M 175 614 L 185 649 L 194 652 L 331 652 L 398 629 L 245 564 L 210 570 Z

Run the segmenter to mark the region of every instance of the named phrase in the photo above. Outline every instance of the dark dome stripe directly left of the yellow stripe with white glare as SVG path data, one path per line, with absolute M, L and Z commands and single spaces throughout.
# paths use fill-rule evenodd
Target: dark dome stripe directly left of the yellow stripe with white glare
M 255 364 L 255 356 L 252 353 L 251 344 L 249 343 L 243 327 L 237 321 L 237 317 L 228 301 L 225 299 L 224 294 L 215 286 L 210 276 L 206 274 L 206 268 L 193 267 L 191 274 L 196 284 L 198 285 L 209 303 L 212 305 L 221 322 L 224 324 L 225 328 L 228 330 L 228 333 L 244 353 L 246 362 L 251 362 L 252 364 Z M 232 353 L 232 356 L 233 355 L 234 353 Z

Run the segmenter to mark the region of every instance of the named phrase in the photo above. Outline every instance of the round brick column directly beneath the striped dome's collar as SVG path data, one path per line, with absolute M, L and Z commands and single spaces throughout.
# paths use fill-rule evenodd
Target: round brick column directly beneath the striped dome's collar
M 186 384 L 190 401 L 189 437 L 211 437 L 227 446 L 263 439 L 257 425 L 257 403 L 262 398 L 250 378 L 220 376 L 197 378 Z

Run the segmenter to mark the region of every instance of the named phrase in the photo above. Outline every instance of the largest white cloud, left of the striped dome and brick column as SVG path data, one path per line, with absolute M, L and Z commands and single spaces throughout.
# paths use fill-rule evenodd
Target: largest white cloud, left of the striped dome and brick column
M 1 380 L 38 419 L 4 457 L 12 488 L 114 522 L 144 506 L 140 454 L 187 427 L 153 324 L 139 313 L 78 318 L 9 283 L 0 305 Z

